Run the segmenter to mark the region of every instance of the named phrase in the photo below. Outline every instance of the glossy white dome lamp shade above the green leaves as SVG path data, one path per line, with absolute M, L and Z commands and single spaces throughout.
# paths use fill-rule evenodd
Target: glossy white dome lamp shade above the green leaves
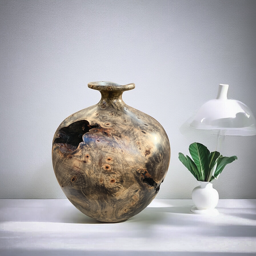
M 241 101 L 227 99 L 227 84 L 220 84 L 217 99 L 204 103 L 190 124 L 196 129 L 225 130 L 225 135 L 256 135 L 256 120 L 252 111 Z

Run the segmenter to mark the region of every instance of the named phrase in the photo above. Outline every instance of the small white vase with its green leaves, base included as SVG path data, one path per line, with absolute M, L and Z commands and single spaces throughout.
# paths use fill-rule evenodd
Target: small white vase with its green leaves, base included
M 218 151 L 210 153 L 206 146 L 197 142 L 189 146 L 189 153 L 193 160 L 182 153 L 179 153 L 179 159 L 200 182 L 200 185 L 192 191 L 195 206 L 191 211 L 198 214 L 218 214 L 215 207 L 218 204 L 219 194 L 212 187 L 212 181 L 217 180 L 224 167 L 237 157 L 235 155 L 223 157 Z

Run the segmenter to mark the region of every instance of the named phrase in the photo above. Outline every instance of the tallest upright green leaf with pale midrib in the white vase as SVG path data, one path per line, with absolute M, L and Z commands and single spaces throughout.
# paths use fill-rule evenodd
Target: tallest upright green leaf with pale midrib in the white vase
M 192 143 L 189 146 L 189 153 L 195 161 L 197 169 L 199 170 L 200 180 L 205 181 L 209 173 L 209 154 L 210 151 L 206 146 L 200 143 Z

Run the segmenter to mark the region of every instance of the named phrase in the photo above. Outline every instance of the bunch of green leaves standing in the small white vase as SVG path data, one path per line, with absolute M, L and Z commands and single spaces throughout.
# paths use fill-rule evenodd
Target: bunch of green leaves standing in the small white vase
M 179 153 L 179 159 L 198 181 L 217 180 L 224 167 L 237 159 L 236 155 L 223 157 L 218 151 L 210 153 L 206 146 L 197 142 L 192 143 L 188 149 L 194 161 L 182 153 Z

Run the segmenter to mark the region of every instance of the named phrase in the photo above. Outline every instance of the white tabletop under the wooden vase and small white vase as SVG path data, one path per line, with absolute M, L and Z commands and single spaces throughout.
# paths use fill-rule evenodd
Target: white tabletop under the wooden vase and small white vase
M 155 199 L 122 223 L 100 223 L 67 199 L 1 199 L 0 255 L 256 255 L 256 199 L 222 199 L 219 215 L 192 200 Z

